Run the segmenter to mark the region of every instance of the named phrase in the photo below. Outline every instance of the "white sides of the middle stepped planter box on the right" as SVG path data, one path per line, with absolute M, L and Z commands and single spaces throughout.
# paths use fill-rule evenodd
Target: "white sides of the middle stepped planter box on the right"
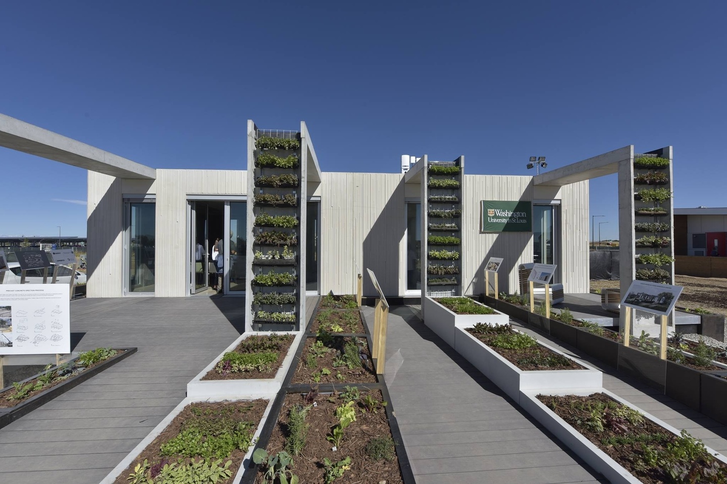
M 589 389 L 598 391 L 603 387 L 603 374 L 582 361 L 578 364 L 586 369 L 582 370 L 531 370 L 523 371 L 507 361 L 496 351 L 470 335 L 462 327 L 455 330 L 454 349 L 464 356 L 486 377 L 488 377 L 500 390 L 507 393 L 510 398 L 520 403 L 521 392 L 537 391 L 538 393 L 553 393 L 556 390 Z M 570 356 L 548 345 L 538 342 L 539 345 L 563 355 Z

